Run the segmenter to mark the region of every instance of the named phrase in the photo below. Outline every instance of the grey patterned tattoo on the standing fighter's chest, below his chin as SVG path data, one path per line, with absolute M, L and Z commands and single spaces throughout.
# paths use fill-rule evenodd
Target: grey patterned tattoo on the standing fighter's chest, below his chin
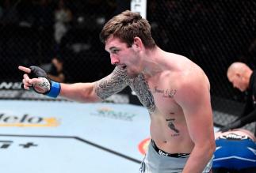
M 132 88 L 139 98 L 139 101 L 144 107 L 147 107 L 149 112 L 155 111 L 154 97 L 148 87 L 147 81 L 143 77 L 143 74 L 139 74 L 138 77 L 128 80 L 128 85 Z

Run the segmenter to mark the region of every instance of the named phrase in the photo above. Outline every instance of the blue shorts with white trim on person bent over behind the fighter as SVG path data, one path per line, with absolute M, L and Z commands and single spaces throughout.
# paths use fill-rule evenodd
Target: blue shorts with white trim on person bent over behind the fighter
M 256 143 L 247 136 L 227 134 L 216 139 L 212 168 L 240 170 L 256 167 Z

